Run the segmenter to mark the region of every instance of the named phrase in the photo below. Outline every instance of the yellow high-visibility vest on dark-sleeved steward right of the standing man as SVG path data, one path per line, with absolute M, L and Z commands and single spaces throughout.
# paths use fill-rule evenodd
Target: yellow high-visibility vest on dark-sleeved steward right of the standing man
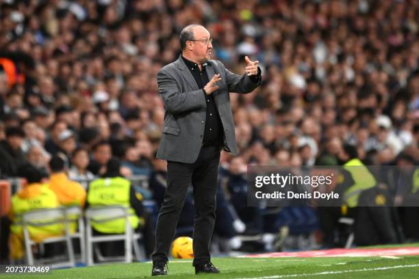
M 359 159 L 351 159 L 344 164 L 354 181 L 353 185 L 344 192 L 344 200 L 348 207 L 357 207 L 361 191 L 372 188 L 377 184 L 374 176 Z

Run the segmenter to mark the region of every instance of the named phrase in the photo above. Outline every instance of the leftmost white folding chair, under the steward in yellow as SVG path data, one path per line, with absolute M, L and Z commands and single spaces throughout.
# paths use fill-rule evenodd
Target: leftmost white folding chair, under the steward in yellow
M 29 226 L 42 228 L 51 225 L 64 226 L 64 235 L 56 237 L 48 237 L 43 241 L 36 242 L 29 236 Z M 25 250 L 27 257 L 27 264 L 34 265 L 34 254 L 32 254 L 32 245 L 38 243 L 40 245 L 46 243 L 66 243 L 66 252 L 68 261 L 53 263 L 53 268 L 57 267 L 75 267 L 75 257 L 73 252 L 73 245 L 71 243 L 70 229 L 68 220 L 66 219 L 65 209 L 39 209 L 28 211 L 22 215 L 23 237 L 25 240 Z

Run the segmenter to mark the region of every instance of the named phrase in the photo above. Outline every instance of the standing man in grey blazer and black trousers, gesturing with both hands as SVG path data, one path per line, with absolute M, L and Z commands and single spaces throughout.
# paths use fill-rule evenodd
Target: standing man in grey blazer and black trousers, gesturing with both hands
M 166 109 L 157 158 L 167 161 L 164 202 L 157 219 L 152 275 L 167 274 L 170 243 L 188 187 L 194 190 L 196 274 L 218 273 L 210 261 L 220 150 L 237 155 L 229 92 L 250 93 L 262 83 L 258 62 L 245 57 L 244 75 L 236 75 L 212 55 L 210 32 L 188 25 L 180 34 L 182 55 L 157 74 Z

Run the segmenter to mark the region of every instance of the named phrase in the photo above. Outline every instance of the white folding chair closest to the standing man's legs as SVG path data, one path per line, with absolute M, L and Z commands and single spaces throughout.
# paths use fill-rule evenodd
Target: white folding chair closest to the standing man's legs
M 92 222 L 107 222 L 125 218 L 125 233 L 118 235 L 93 235 Z M 87 265 L 94 264 L 93 258 L 93 244 L 98 242 L 109 241 L 125 241 L 125 256 L 123 260 L 120 257 L 103 257 L 98 254 L 99 261 L 112 261 L 112 262 L 132 262 L 132 248 L 136 254 L 137 261 L 142 261 L 145 258 L 144 252 L 138 245 L 138 239 L 141 239 L 140 233 L 134 233 L 134 230 L 129 223 L 129 212 L 126 207 L 110 206 L 110 207 L 92 207 L 86 210 L 86 245 L 87 245 Z

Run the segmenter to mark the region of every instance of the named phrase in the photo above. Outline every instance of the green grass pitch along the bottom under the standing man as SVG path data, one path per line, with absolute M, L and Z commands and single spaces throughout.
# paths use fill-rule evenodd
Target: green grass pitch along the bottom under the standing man
M 191 262 L 170 261 L 168 266 L 169 276 L 164 278 L 260 278 L 263 276 L 272 276 L 272 279 L 419 278 L 419 256 L 400 256 L 400 258 L 213 258 L 212 262 L 220 268 L 221 274 L 199 274 L 196 277 Z M 151 263 L 97 265 L 94 267 L 55 269 L 51 274 L 45 275 L 1 274 L 0 278 L 151 278 L 151 265 Z M 403 267 L 405 265 L 411 265 L 411 267 Z M 395 266 L 398 268 L 394 268 Z M 334 271 L 337 273 L 331 274 Z M 318 274 L 320 272 L 328 274 Z

